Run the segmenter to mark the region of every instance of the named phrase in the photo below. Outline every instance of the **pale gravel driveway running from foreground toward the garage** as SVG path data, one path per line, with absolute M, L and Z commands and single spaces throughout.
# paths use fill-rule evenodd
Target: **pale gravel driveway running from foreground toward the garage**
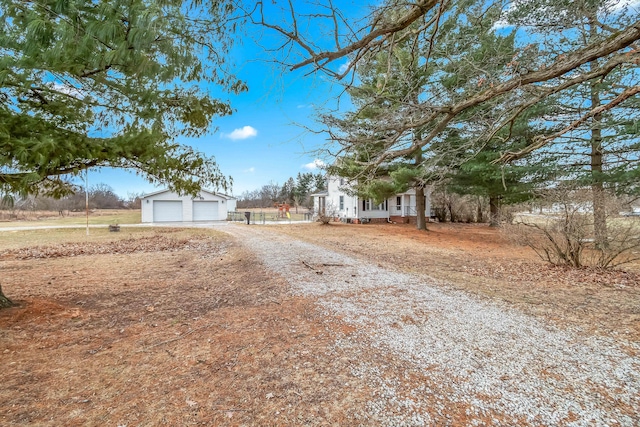
M 351 375 L 376 390 L 363 425 L 640 425 L 638 343 L 559 329 L 277 229 L 222 230 L 357 331 L 335 345 L 362 355 Z

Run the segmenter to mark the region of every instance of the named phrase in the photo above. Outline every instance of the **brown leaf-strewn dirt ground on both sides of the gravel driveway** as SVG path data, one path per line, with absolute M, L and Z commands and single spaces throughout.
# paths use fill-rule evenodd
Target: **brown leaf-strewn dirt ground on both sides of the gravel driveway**
M 486 226 L 274 227 L 640 341 L 637 265 L 548 267 Z M 313 299 L 291 297 L 226 234 L 34 233 L 0 234 L 0 284 L 19 303 L 0 311 L 0 425 L 358 424 L 355 409 L 372 391 L 349 366 L 362 355 L 332 346 L 354 331 L 323 318 Z

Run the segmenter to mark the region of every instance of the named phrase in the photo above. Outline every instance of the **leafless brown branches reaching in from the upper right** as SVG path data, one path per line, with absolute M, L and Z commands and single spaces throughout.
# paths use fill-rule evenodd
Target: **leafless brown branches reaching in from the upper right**
M 527 4 L 531 14 L 544 13 L 542 6 L 535 8 L 536 2 L 522 3 Z M 465 39 L 468 33 L 451 27 L 453 24 L 461 25 L 470 17 L 465 16 L 465 8 L 481 9 L 487 15 L 493 14 L 492 23 L 487 24 L 484 16 L 481 20 L 470 22 L 472 25 L 482 25 L 486 32 L 496 31 L 508 18 L 505 4 L 501 1 L 389 0 L 356 21 L 346 16 L 331 0 L 307 2 L 304 9 L 310 9 L 308 13 L 298 12 L 297 8 L 302 9 L 300 2 L 275 0 L 268 4 L 261 1 L 254 4 L 252 9 L 245 8 L 249 19 L 280 37 L 278 49 L 274 46 L 276 61 L 289 66 L 291 70 L 308 68 L 310 71 L 327 73 L 336 80 L 351 75 L 367 57 L 393 51 L 407 40 L 415 46 L 418 63 L 424 67 L 435 66 L 446 70 L 448 66 L 456 66 L 461 59 L 464 60 L 466 52 L 452 50 L 450 55 L 441 52 L 438 61 L 435 61 L 433 54 L 445 47 L 443 40 L 449 36 L 457 37 L 460 43 L 474 42 Z M 604 1 L 600 5 L 601 10 L 607 7 Z M 568 9 L 582 7 L 581 2 L 563 2 L 563 6 Z M 571 13 L 571 10 L 567 13 Z M 461 16 L 460 21 L 448 21 L 452 15 Z M 640 60 L 640 51 L 636 46 L 640 39 L 640 20 L 618 24 L 616 16 L 609 14 L 607 20 L 597 23 L 607 31 L 589 39 L 576 40 L 572 49 L 562 55 L 553 56 L 540 52 L 534 44 L 521 43 L 509 61 L 492 69 L 476 67 L 473 74 L 463 76 L 464 82 L 455 83 L 448 91 L 434 92 L 434 87 L 443 87 L 442 82 L 438 81 L 438 73 L 435 73 L 434 78 L 424 85 L 427 89 L 411 114 L 378 123 L 377 131 L 383 135 L 380 142 L 384 150 L 366 160 L 365 165 L 375 168 L 424 147 L 441 144 L 442 135 L 448 130 L 465 124 L 478 124 L 475 120 L 477 114 L 471 114 L 473 117 L 470 117 L 470 113 L 479 112 L 479 109 L 491 109 L 494 117 L 495 111 L 500 111 L 501 114 L 492 122 L 481 123 L 482 126 L 477 127 L 476 139 L 482 143 L 501 129 L 508 129 L 516 119 L 549 97 L 559 96 L 584 82 L 603 78 L 620 67 L 637 67 Z M 281 19 L 278 21 L 272 17 Z M 564 30 L 555 29 L 556 35 L 559 37 Z M 322 31 L 324 33 L 319 37 L 318 33 Z M 339 59 L 345 62 L 337 64 Z M 467 58 L 471 65 L 475 60 L 475 57 Z M 347 85 L 351 83 L 345 82 Z M 586 106 L 572 122 L 565 123 L 555 132 L 536 137 L 527 147 L 505 152 L 500 160 L 521 158 L 640 93 L 640 85 L 636 80 L 626 82 L 626 86 L 607 103 Z M 420 138 L 412 138 L 416 129 L 425 130 Z

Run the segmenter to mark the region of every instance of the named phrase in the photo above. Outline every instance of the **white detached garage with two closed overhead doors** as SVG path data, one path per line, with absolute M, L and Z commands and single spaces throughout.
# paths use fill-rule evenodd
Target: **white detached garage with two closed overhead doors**
M 140 201 L 142 222 L 226 220 L 227 212 L 236 210 L 235 198 L 207 190 L 200 191 L 198 197 L 162 190 L 147 194 Z

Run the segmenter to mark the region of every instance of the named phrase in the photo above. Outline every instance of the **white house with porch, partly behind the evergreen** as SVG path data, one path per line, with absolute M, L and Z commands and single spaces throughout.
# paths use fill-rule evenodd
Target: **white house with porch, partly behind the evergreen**
M 347 194 L 347 180 L 338 177 L 327 177 L 327 189 L 313 196 L 314 212 L 326 212 L 336 218 L 354 222 L 387 222 L 415 223 L 416 191 L 410 189 L 388 198 L 380 204 L 373 200 L 361 199 Z M 431 187 L 425 188 L 425 214 L 431 216 Z

